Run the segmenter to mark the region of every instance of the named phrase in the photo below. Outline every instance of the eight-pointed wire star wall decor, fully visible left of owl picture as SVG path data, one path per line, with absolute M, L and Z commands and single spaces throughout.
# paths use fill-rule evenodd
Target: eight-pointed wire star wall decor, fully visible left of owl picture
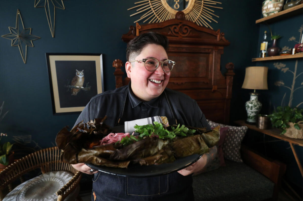
M 8 29 L 11 33 L 1 37 L 12 40 L 12 47 L 18 46 L 22 60 L 26 63 L 27 46 L 34 47 L 32 41 L 40 39 L 40 37 L 31 34 L 32 28 L 24 28 L 19 9 L 17 9 L 16 27 L 8 27 Z

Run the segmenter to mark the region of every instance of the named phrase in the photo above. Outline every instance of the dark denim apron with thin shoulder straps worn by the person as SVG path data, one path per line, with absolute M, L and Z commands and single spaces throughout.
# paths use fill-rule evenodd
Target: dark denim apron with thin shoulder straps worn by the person
M 123 107 L 121 109 L 116 125 L 124 113 L 128 90 L 125 92 Z M 165 98 L 170 107 L 174 119 L 169 122 L 176 122 L 175 113 L 171 102 L 165 93 Z M 95 173 L 93 178 L 92 201 L 120 201 L 120 200 L 194 200 L 192 190 L 192 176 L 182 176 L 173 172 L 161 176 L 152 177 L 125 177 L 108 173 Z

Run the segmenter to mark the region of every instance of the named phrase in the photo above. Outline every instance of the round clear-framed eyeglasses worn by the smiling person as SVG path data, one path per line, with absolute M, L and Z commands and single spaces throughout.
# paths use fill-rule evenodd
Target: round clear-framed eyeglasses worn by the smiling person
M 137 60 L 134 60 L 134 61 L 137 61 Z M 134 62 L 134 61 L 130 61 L 130 62 Z M 175 61 L 171 61 L 171 60 L 158 61 L 156 58 L 147 58 L 147 59 L 142 59 L 139 61 L 144 62 L 144 66 L 145 66 L 146 70 L 148 70 L 148 71 L 157 70 L 157 68 L 159 66 L 159 62 L 162 63 L 161 67 L 162 67 L 163 71 L 166 73 L 170 72 L 175 65 Z M 137 62 L 139 63 L 139 61 L 137 61 Z

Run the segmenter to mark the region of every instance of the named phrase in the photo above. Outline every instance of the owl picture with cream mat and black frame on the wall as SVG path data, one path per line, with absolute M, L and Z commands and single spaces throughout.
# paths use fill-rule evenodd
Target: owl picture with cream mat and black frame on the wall
M 54 114 L 79 113 L 104 91 L 102 54 L 45 55 Z

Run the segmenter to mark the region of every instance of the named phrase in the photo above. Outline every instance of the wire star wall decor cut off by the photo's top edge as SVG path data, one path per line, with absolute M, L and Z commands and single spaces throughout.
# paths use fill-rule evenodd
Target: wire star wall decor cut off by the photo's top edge
M 52 37 L 55 37 L 55 14 L 56 8 L 64 10 L 63 0 L 35 0 L 35 8 L 44 7 L 46 18 L 48 21 L 49 29 L 51 30 Z M 53 15 L 52 15 L 53 13 Z

